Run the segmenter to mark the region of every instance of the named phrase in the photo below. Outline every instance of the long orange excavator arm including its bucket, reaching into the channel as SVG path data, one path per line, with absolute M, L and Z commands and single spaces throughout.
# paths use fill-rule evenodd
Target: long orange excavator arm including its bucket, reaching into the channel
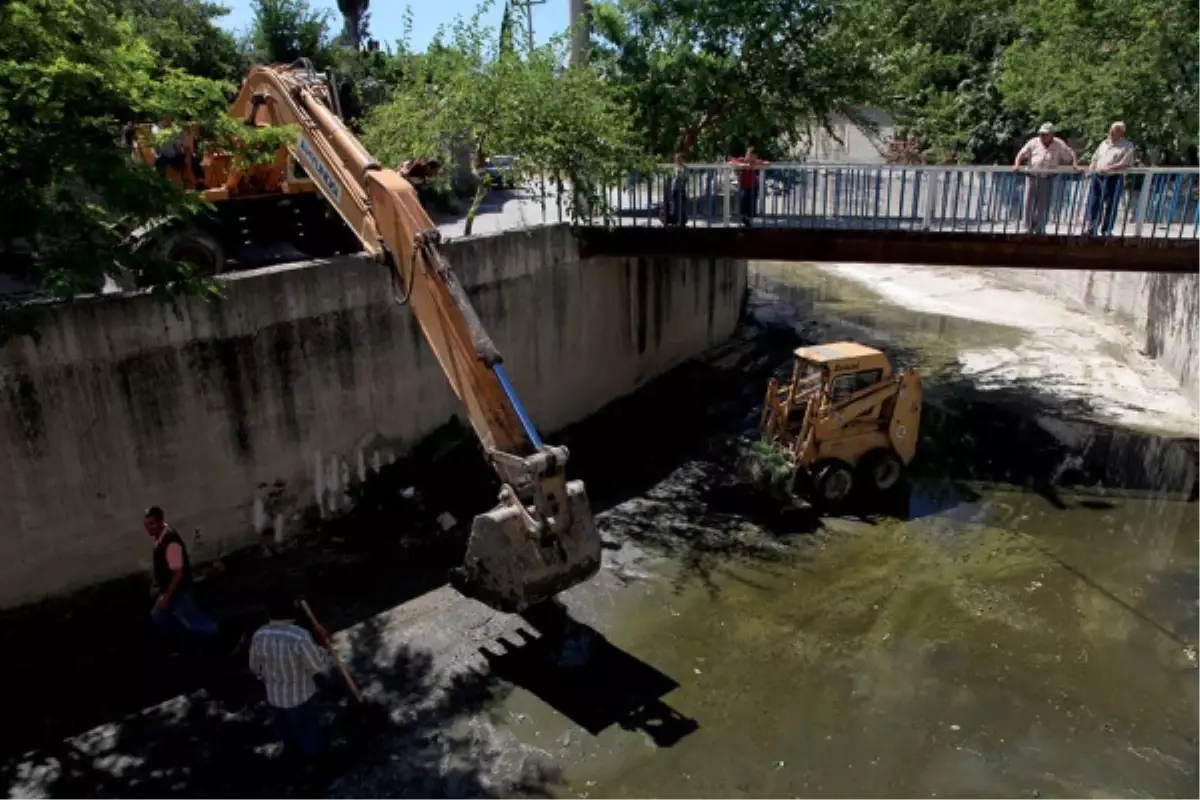
M 499 505 L 475 517 L 456 588 L 521 612 L 600 569 L 600 537 L 581 481 L 568 481 L 565 447 L 541 441 L 413 186 L 384 169 L 332 110 L 307 60 L 254 67 L 230 108 L 248 125 L 293 125 L 293 157 L 391 272 L 502 482 Z

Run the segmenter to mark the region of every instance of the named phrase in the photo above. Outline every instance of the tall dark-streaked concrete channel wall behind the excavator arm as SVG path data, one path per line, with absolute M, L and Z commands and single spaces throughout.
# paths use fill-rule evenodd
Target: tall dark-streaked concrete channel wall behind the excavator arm
M 544 433 L 727 338 L 746 287 L 733 259 L 582 260 L 565 227 L 445 252 Z M 0 606 L 145 569 L 150 504 L 196 559 L 287 537 L 460 414 L 378 264 L 227 287 L 62 305 L 0 349 Z

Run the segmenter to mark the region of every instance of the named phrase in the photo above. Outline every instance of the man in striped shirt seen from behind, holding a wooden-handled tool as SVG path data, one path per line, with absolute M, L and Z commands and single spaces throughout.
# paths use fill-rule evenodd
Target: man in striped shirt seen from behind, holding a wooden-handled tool
M 329 667 L 329 656 L 308 631 L 295 624 L 296 604 L 288 593 L 274 588 L 265 600 L 270 621 L 251 639 L 250 670 L 266 688 L 266 703 L 284 750 L 316 756 L 322 736 L 313 678 Z M 317 636 L 328 648 L 329 633 L 318 626 Z

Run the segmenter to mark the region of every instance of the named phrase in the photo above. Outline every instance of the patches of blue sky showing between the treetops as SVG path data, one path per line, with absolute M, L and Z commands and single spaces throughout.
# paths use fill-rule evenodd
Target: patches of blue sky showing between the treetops
M 546 0 L 533 8 L 533 30 L 535 40 L 541 43 L 556 34 L 566 30 L 569 0 Z M 342 16 L 337 12 L 336 0 L 308 0 L 314 10 L 330 12 L 330 23 L 335 32 L 341 30 Z M 241 34 L 250 28 L 253 14 L 251 0 L 221 0 L 229 8 L 220 25 L 234 34 Z M 378 40 L 380 47 L 394 47 L 396 40 L 404 32 L 404 10 L 409 4 L 403 0 L 373 0 L 371 14 L 371 36 Z M 456 17 L 469 17 L 480 6 L 480 0 L 419 0 L 413 4 L 413 37 L 410 44 L 424 50 L 438 28 L 449 26 Z M 504 0 L 492 0 L 485 14 L 487 24 L 499 29 L 500 16 L 504 13 Z

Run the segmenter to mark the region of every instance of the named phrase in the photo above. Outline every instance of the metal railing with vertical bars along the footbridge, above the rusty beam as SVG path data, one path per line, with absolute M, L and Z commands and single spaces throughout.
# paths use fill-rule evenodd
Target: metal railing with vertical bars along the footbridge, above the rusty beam
M 630 175 L 608 213 L 576 222 L 1200 239 L 1200 169 L 1016 172 L 1006 167 L 694 164 Z M 582 218 L 580 218 L 582 216 Z

